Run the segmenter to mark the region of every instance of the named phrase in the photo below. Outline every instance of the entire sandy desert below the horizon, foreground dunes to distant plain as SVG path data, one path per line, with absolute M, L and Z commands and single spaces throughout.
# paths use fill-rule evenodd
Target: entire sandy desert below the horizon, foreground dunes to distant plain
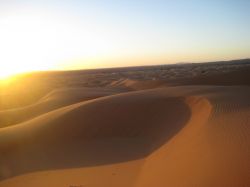
M 0 187 L 249 187 L 250 60 L 20 75 Z

